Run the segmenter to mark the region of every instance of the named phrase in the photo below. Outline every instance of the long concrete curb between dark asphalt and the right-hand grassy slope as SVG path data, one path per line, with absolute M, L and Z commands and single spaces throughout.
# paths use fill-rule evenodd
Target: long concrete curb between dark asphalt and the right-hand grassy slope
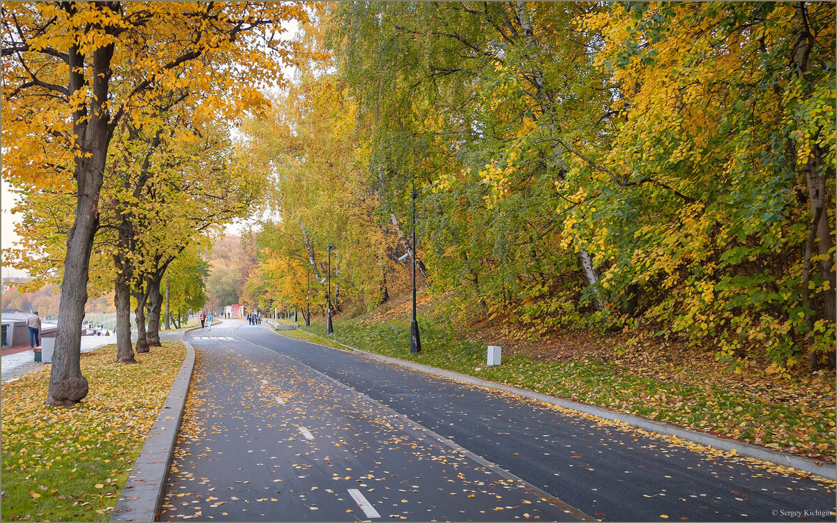
M 311 332 L 308 332 L 308 334 L 311 334 Z M 313 336 L 317 335 L 315 334 Z M 735 450 L 737 455 L 745 458 L 760 459 L 762 461 L 767 461 L 768 463 L 777 464 L 783 467 L 791 467 L 810 474 L 816 474 L 825 479 L 837 479 L 837 466 L 834 464 L 816 464 L 814 463 L 817 461 L 815 459 L 804 458 L 802 456 L 796 456 L 778 450 L 765 449 L 764 447 L 760 447 L 755 444 L 748 444 L 734 439 L 721 438 L 714 434 L 707 434 L 691 430 L 690 428 L 679 427 L 672 423 L 660 422 L 649 418 L 641 418 L 639 416 L 634 416 L 633 414 L 620 413 L 608 408 L 589 405 L 588 403 L 574 402 L 573 400 L 564 399 L 562 397 L 549 396 L 542 392 L 530 391 L 521 387 L 512 387 L 511 385 L 504 385 L 498 382 L 490 382 L 489 380 L 469 376 L 467 374 L 462 374 L 461 372 L 447 371 L 438 367 L 430 367 L 429 365 L 402 360 L 392 356 L 383 356 L 383 354 L 377 354 L 376 352 L 362 351 L 352 346 L 343 345 L 339 342 L 336 343 L 365 356 L 401 365 L 403 367 L 409 367 L 417 371 L 448 377 L 450 379 L 470 383 L 472 385 L 478 385 L 480 387 L 491 388 L 503 392 L 511 392 L 512 394 L 517 394 L 518 396 L 528 397 L 543 403 L 550 403 L 552 405 L 557 405 L 558 407 L 590 414 L 598 418 L 627 423 L 631 427 L 642 428 L 644 430 L 660 433 L 665 436 L 675 436 L 676 438 L 685 439 L 686 441 L 691 441 L 696 444 L 706 445 L 707 447 L 711 447 L 713 449 L 724 450 L 727 452 Z

